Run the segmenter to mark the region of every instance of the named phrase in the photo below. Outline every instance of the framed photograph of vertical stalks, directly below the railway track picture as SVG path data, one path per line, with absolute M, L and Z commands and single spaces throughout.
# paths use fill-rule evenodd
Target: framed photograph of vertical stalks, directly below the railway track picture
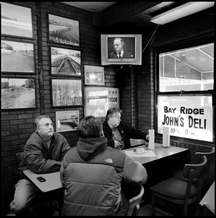
M 52 79 L 54 107 L 82 105 L 81 80 Z

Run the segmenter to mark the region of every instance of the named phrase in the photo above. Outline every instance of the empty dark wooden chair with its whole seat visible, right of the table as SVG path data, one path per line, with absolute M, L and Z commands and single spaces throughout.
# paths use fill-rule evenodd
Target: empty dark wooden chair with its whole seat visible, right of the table
M 206 171 L 207 157 L 199 154 L 196 156 L 199 157 L 196 163 L 184 165 L 183 179 L 171 177 L 150 188 L 152 191 L 152 215 L 155 214 L 157 199 L 181 206 L 185 216 L 188 215 L 189 205 L 196 204 L 195 206 L 198 206 L 203 182 L 201 178 Z

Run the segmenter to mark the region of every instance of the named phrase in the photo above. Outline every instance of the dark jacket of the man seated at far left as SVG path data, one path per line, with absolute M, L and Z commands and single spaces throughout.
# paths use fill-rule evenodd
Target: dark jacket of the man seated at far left
M 51 173 L 60 170 L 61 161 L 70 146 L 65 137 L 54 133 L 48 146 L 41 136 L 34 132 L 24 147 L 24 164 L 35 173 Z

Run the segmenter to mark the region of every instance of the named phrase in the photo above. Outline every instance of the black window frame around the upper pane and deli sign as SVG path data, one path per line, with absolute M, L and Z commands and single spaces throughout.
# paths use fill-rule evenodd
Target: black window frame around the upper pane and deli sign
M 156 47 L 153 51 L 154 53 L 154 62 L 155 62 L 155 68 L 154 68 L 154 77 L 155 77 L 155 95 L 154 95 L 154 99 L 155 99 L 155 107 L 154 107 L 154 114 L 155 114 L 155 119 L 154 119 L 154 126 L 156 128 L 156 133 L 159 136 L 162 136 L 162 134 L 158 133 L 158 125 L 157 125 L 157 121 L 158 121 L 158 115 L 157 115 L 157 105 L 158 105 L 158 96 L 168 96 L 168 95 L 179 95 L 179 96 L 184 96 L 184 95 L 211 95 L 212 96 L 212 114 L 213 114 L 213 140 L 210 141 L 202 141 L 202 140 L 197 140 L 197 139 L 191 139 L 191 138 L 185 138 L 185 137 L 178 137 L 178 136 L 170 136 L 171 139 L 174 140 L 181 140 L 183 139 L 184 142 L 189 142 L 189 143 L 193 143 L 193 142 L 198 142 L 198 143 L 202 143 L 202 144 L 212 144 L 215 143 L 215 135 L 214 135 L 214 130 L 215 130 L 215 123 L 214 123 L 214 117 L 215 117 L 215 97 L 214 97 L 214 90 L 215 90 L 215 76 L 214 76 L 214 88 L 213 90 L 208 90 L 208 91 L 179 91 L 179 92 L 159 92 L 159 53 L 162 52 L 168 52 L 171 50 L 178 50 L 178 49 L 184 49 L 184 48 L 189 48 L 189 47 L 193 47 L 193 46 L 199 46 L 202 44 L 207 44 L 207 43 L 214 43 L 214 38 L 212 36 L 201 36 L 201 37 L 195 37 L 195 38 L 190 38 L 186 41 L 181 41 L 178 43 L 174 43 L 174 44 L 169 44 L 169 45 L 165 45 L 165 46 L 161 46 L 161 47 Z

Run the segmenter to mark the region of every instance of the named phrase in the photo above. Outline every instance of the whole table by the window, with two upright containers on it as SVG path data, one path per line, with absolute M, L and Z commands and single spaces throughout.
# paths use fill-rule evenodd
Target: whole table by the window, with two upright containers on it
M 133 160 L 139 161 L 145 168 L 148 174 L 148 180 L 145 183 L 144 202 L 151 201 L 150 187 L 165 179 L 168 179 L 175 172 L 182 170 L 185 163 L 190 162 L 190 151 L 188 148 L 176 146 L 163 147 L 162 144 L 155 143 L 154 151 L 147 150 L 143 154 L 137 155 L 133 152 L 134 149 L 144 148 L 138 146 L 125 149 L 125 153 Z

